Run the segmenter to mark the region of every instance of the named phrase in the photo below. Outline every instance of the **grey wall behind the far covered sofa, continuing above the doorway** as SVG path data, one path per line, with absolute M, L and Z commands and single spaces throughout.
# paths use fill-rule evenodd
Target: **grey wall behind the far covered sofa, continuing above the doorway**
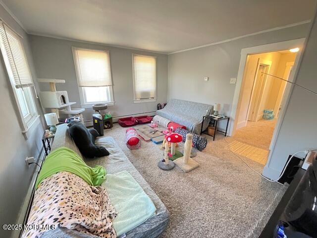
M 241 49 L 302 38 L 307 30 L 303 24 L 169 55 L 168 98 L 220 103 L 220 113 L 230 116 L 235 85 L 229 81 L 237 77 Z

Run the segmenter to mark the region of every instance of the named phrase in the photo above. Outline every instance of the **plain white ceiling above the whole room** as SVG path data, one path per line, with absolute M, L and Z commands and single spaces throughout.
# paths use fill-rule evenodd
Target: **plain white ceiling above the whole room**
M 2 0 L 28 33 L 171 53 L 309 20 L 315 0 Z

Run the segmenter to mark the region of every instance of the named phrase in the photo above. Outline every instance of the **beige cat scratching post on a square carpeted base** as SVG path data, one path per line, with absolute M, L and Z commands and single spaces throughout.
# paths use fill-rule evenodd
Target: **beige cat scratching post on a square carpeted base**
M 192 171 L 199 167 L 199 164 L 190 158 L 190 152 L 192 150 L 192 142 L 193 142 L 193 135 L 188 133 L 186 135 L 186 141 L 184 145 L 184 156 L 174 160 L 174 163 L 185 173 Z

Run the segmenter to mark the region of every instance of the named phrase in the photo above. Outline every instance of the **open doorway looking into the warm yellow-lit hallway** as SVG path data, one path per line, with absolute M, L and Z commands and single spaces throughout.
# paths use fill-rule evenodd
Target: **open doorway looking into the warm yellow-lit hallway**
M 290 89 L 286 81 L 297 56 L 297 52 L 289 50 L 246 56 L 233 138 L 239 142 L 239 150 L 250 153 L 251 159 L 256 151 L 254 160 L 263 165 L 268 159 L 280 112 L 286 107 Z M 268 112 L 271 117 L 267 117 Z

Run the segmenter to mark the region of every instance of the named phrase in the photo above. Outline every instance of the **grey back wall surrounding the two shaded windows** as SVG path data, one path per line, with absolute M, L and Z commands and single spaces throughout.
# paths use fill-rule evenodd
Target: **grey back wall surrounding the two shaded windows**
M 81 105 L 72 46 L 109 51 L 115 103 L 114 106 L 108 107 L 108 110 L 113 116 L 153 112 L 157 110 L 158 103 L 167 100 L 167 55 L 35 35 L 30 35 L 30 43 L 38 77 L 64 79 L 66 82 L 56 84 L 56 88 L 67 91 L 69 100 L 77 103 L 72 106 L 74 108 L 79 108 Z M 132 53 L 157 57 L 156 102 L 133 103 Z M 48 83 L 39 84 L 42 91 L 50 90 Z M 83 113 L 84 119 L 91 120 L 92 114 L 91 108 L 86 109 Z

